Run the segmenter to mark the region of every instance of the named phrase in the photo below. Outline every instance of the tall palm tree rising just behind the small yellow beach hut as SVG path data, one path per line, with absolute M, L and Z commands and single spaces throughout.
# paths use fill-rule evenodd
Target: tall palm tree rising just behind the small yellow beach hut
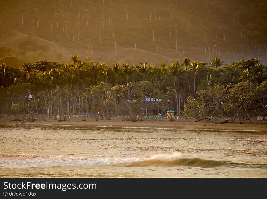
M 177 105 L 177 115 L 180 117 L 180 81 L 183 72 L 183 67 L 179 64 L 178 61 L 175 61 L 174 63 L 171 63 L 171 66 L 169 66 L 169 74 L 174 82 L 174 91 L 175 91 L 175 97 L 176 97 L 176 105 Z M 178 95 L 177 95 L 177 86 L 176 82 L 178 83 Z

